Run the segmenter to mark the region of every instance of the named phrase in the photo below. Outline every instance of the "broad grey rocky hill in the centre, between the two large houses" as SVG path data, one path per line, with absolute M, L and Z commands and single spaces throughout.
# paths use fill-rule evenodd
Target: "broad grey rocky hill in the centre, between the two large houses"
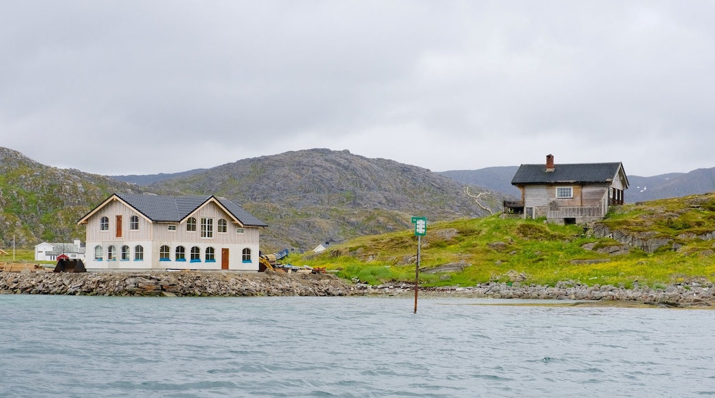
M 266 248 L 312 249 L 361 235 L 412 228 L 413 215 L 453 220 L 488 215 L 465 184 L 425 168 L 347 150 L 299 150 L 239 160 L 149 185 L 171 195 L 214 194 L 240 203 L 270 227 Z M 470 186 L 470 192 L 483 188 Z M 480 198 L 501 211 L 503 193 Z

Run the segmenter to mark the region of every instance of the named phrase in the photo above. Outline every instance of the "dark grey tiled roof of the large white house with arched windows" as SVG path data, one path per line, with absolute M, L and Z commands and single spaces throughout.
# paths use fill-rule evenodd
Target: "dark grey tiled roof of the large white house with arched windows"
M 149 220 L 164 223 L 179 223 L 201 207 L 207 200 L 215 198 L 243 225 L 253 227 L 267 227 L 268 225 L 248 213 L 244 208 L 225 198 L 216 198 L 212 195 L 204 196 L 160 196 L 137 195 L 134 193 L 117 193 L 118 198 L 127 202 L 134 210 L 147 216 Z

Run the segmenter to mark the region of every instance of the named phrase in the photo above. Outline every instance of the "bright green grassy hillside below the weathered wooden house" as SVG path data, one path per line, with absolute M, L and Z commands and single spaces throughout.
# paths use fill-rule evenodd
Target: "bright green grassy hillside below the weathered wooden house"
M 667 241 L 653 253 L 596 238 L 582 226 L 498 216 L 428 225 L 422 240 L 425 271 L 444 265 L 458 272 L 420 273 L 424 285 L 521 282 L 555 285 L 665 285 L 715 281 L 715 195 L 656 200 L 617 208 L 603 222 L 621 235 Z M 616 234 L 618 235 L 618 234 Z M 293 265 L 340 270 L 363 282 L 413 282 L 417 238 L 413 230 L 351 240 L 320 255 L 292 257 Z

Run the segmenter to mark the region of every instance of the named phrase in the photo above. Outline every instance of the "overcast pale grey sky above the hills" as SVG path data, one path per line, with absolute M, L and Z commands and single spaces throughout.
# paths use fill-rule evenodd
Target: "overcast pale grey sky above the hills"
M 290 150 L 715 167 L 715 1 L 0 0 L 0 146 L 102 175 Z

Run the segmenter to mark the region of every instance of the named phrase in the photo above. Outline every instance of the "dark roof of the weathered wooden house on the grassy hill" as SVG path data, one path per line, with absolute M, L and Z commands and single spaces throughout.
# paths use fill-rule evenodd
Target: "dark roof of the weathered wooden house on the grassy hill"
M 611 182 L 621 163 L 576 163 L 556 164 L 551 172 L 545 164 L 521 165 L 511 185 L 558 184 L 558 183 L 607 183 Z M 623 172 L 625 175 L 625 172 Z M 628 186 L 628 180 L 626 180 Z

